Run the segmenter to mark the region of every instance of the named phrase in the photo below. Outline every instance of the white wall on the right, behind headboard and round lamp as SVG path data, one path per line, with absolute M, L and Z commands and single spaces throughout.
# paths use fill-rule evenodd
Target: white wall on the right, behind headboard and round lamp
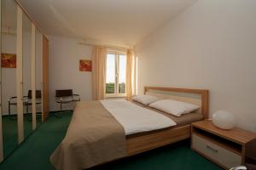
M 137 45 L 138 87 L 207 88 L 256 132 L 256 1 L 199 0 Z

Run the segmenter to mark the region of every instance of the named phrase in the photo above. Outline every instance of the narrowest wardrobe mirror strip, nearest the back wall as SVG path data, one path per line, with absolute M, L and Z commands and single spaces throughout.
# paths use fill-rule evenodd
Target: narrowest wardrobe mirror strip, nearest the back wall
M 42 122 L 42 34 L 36 29 L 36 105 L 37 127 Z

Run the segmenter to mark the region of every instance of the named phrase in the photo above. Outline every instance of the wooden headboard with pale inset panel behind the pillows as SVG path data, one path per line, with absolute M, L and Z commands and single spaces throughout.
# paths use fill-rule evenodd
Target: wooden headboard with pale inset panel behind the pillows
M 205 119 L 208 118 L 209 91 L 206 89 L 144 87 L 144 94 L 154 95 L 160 99 L 175 99 L 199 105 L 201 114 Z

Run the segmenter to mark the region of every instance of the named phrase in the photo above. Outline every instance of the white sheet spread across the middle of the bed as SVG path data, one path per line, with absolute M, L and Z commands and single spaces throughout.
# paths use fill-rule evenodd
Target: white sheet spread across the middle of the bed
M 142 133 L 176 125 L 171 118 L 150 111 L 125 99 L 104 99 L 102 105 L 124 127 L 125 135 Z

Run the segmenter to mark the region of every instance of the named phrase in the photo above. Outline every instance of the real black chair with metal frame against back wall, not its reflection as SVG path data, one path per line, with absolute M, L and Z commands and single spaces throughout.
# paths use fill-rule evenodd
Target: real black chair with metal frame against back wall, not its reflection
M 60 104 L 60 111 L 62 111 L 63 104 L 70 104 L 77 101 L 80 101 L 80 95 L 73 94 L 72 89 L 55 90 L 55 102 Z M 57 115 L 55 114 L 55 116 Z

